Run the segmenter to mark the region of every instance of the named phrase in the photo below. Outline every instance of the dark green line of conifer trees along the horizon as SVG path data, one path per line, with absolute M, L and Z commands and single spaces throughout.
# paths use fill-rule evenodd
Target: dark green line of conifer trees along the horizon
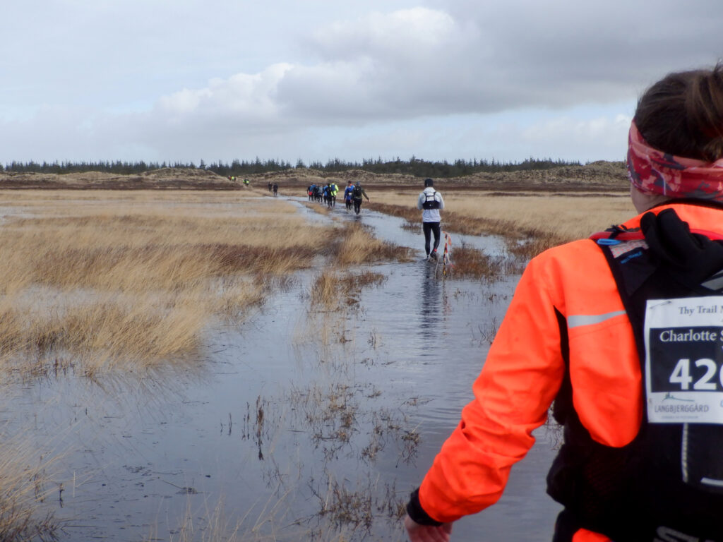
M 86 173 L 89 171 L 100 171 L 103 173 L 116 173 L 120 175 L 132 175 L 153 171 L 163 168 L 179 168 L 179 169 L 202 169 L 213 171 L 221 176 L 243 177 L 254 175 L 257 173 L 270 173 L 273 171 L 286 171 L 289 169 L 315 169 L 328 173 L 340 173 L 352 169 L 369 171 L 370 173 L 404 173 L 416 177 L 436 177 L 450 178 L 471 175 L 472 173 L 496 173 L 500 171 L 523 171 L 523 170 L 541 170 L 557 168 L 564 165 L 582 165 L 578 161 L 570 160 L 552 160 L 552 158 L 527 158 L 521 162 L 502 162 L 495 160 L 455 160 L 448 162 L 447 160 L 421 160 L 414 156 L 409 160 L 362 160 L 359 162 L 348 162 L 334 158 L 328 160 L 327 163 L 311 162 L 309 165 L 303 160 L 297 160 L 296 165 L 291 165 L 284 160 L 260 160 L 256 158 L 254 161 L 233 160 L 231 163 L 218 162 L 206 164 L 201 160 L 198 165 L 193 162 L 182 163 L 158 163 L 145 162 L 127 162 L 116 160 L 98 161 L 98 162 L 17 162 L 2 165 L 0 171 L 11 173 Z

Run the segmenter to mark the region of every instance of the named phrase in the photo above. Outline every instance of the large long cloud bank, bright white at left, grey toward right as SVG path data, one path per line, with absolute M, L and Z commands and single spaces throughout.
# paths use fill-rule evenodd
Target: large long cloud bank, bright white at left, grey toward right
M 517 0 L 512 7 L 518 17 L 471 7 L 462 19 L 457 12 L 416 7 L 334 22 L 307 40 L 317 62 L 279 64 L 283 69 L 269 69 L 272 77 L 239 73 L 215 80 L 163 98 L 161 109 L 176 101 L 187 113 L 226 107 L 239 120 L 324 126 L 566 108 L 630 99 L 649 82 L 646 74 L 664 62 L 649 51 L 660 38 L 648 27 L 635 33 L 628 21 L 622 26 L 632 35 L 612 25 L 591 31 L 570 21 L 567 1 L 543 9 Z M 586 23 L 594 13 L 582 15 Z M 600 22 L 612 23 L 614 15 L 602 9 Z M 688 41 L 693 36 L 698 39 L 692 33 Z M 674 41 L 685 42 L 680 49 L 701 61 L 714 60 L 706 46 Z M 639 46 L 626 50 L 630 42 Z

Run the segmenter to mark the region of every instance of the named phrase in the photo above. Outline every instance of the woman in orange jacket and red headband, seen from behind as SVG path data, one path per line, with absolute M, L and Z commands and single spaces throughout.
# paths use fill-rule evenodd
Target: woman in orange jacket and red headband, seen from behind
M 628 176 L 641 215 L 523 272 L 412 542 L 497 502 L 551 405 L 554 542 L 723 541 L 723 65 L 646 91 Z

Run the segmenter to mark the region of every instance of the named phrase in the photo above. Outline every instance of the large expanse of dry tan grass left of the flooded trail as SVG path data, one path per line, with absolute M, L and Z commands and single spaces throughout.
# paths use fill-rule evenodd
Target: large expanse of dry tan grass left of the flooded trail
M 325 247 L 294 207 L 247 194 L 2 193 L 0 358 L 85 374 L 181 359 Z

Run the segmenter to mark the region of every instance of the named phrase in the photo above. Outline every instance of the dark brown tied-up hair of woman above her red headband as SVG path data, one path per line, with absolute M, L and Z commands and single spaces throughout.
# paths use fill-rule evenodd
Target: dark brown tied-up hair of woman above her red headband
M 723 158 L 723 63 L 667 74 L 638 100 L 635 121 L 658 150 L 709 162 Z

